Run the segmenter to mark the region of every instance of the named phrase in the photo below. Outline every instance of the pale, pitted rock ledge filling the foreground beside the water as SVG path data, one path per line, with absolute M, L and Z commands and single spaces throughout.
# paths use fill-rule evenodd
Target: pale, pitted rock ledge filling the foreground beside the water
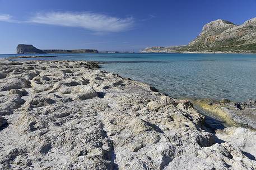
M 229 137 L 255 132 L 220 142 L 188 100 L 96 67 L 1 61 L 0 169 L 256 169 Z

